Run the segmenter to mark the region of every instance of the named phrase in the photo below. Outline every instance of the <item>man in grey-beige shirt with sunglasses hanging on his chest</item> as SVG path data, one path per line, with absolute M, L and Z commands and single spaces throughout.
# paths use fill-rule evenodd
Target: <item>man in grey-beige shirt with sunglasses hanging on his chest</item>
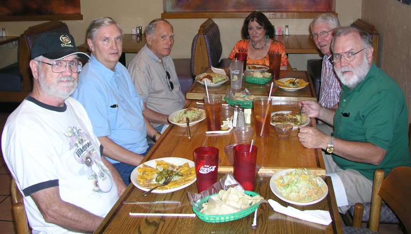
M 176 68 L 170 57 L 174 44 L 173 26 L 155 19 L 145 29 L 147 44 L 128 65 L 134 86 L 143 99 L 143 115 L 158 132 L 169 115 L 185 104 Z

